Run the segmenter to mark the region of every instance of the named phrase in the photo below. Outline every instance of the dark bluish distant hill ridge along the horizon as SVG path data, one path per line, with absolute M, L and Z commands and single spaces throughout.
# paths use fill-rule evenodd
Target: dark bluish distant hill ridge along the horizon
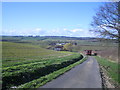
M 2 36 L 2 41 L 40 41 L 40 40 L 93 40 L 94 37 L 66 37 L 66 36 Z

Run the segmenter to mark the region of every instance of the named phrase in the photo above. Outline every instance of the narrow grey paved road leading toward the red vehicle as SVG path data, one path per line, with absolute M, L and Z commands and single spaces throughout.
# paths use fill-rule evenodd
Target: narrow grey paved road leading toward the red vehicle
M 102 88 L 101 83 L 98 63 L 89 56 L 82 64 L 40 88 Z

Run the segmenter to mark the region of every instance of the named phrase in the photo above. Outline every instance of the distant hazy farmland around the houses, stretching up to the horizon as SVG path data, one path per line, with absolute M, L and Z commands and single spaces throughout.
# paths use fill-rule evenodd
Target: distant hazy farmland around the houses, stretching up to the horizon
M 20 44 L 37 45 L 42 48 L 54 47 L 51 43 L 76 42 L 72 47 L 73 52 L 83 52 L 84 50 L 99 50 L 98 54 L 112 61 L 118 61 L 118 43 L 115 40 L 100 41 L 95 38 L 73 38 L 73 37 L 32 37 L 32 36 L 4 36 L 3 41 L 17 42 Z M 113 53 L 114 52 L 114 53 Z

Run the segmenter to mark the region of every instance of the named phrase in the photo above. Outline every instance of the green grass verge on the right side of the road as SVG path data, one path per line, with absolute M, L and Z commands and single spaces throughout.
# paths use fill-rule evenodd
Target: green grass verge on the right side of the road
M 107 60 L 105 58 L 95 56 L 98 63 L 107 71 L 107 74 L 109 77 L 112 78 L 113 82 L 116 82 L 118 85 L 120 84 L 120 73 L 119 73 L 119 67 L 120 64 L 116 62 L 111 62 L 110 60 Z

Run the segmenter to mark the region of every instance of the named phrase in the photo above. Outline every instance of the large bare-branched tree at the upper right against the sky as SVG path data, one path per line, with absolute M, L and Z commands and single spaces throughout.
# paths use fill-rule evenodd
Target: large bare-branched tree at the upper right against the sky
M 100 6 L 91 22 L 95 33 L 105 38 L 117 38 L 120 42 L 120 6 L 119 2 L 107 2 Z

